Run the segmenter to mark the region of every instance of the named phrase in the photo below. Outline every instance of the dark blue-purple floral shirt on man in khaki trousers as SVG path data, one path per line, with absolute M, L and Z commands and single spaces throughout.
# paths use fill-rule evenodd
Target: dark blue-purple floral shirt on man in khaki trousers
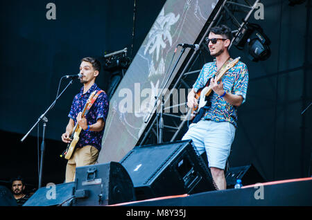
M 77 123 L 77 116 L 80 111 L 83 111 L 85 107 L 85 103 L 87 102 L 90 94 L 94 91 L 100 91 L 101 89 L 94 83 L 91 88 L 87 91 L 87 93 L 83 94 L 83 87 L 80 89 L 80 93 L 78 93 L 73 98 L 73 103 L 71 104 L 71 111 L 69 111 L 69 118 L 75 121 L 75 125 Z M 87 113 L 87 124 L 94 124 L 98 118 L 103 118 L 104 122 L 107 118 L 108 113 L 108 98 L 105 92 L 100 93 L 98 98 L 92 104 L 91 109 Z M 104 129 L 102 131 L 84 131 L 83 129 L 80 132 L 78 143 L 76 147 L 83 147 L 86 145 L 92 145 L 101 150 L 102 138 L 103 138 Z

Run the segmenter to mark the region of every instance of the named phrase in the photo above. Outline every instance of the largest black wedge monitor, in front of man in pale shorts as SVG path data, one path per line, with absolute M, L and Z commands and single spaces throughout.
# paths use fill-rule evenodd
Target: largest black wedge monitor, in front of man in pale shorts
M 135 147 L 120 163 L 132 178 L 137 200 L 215 190 L 191 140 Z

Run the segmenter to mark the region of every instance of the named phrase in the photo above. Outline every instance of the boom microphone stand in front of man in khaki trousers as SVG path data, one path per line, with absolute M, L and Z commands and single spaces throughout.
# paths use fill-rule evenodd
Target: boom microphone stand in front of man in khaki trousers
M 40 156 L 40 173 L 39 173 L 39 184 L 38 184 L 38 188 L 41 187 L 42 185 L 42 172 L 43 172 L 43 163 L 44 163 L 44 150 L 45 150 L 45 142 L 44 142 L 44 138 L 45 138 L 45 131 L 46 131 L 46 122 L 48 122 L 48 119 L 46 118 L 46 113 L 48 113 L 54 106 L 55 102 L 58 100 L 58 98 L 60 98 L 60 96 L 62 95 L 62 93 L 64 93 L 64 91 L 69 87 L 69 85 L 71 85 L 73 83 L 73 80 L 71 80 L 69 82 L 69 84 L 67 84 L 67 86 L 63 89 L 63 91 L 60 93 L 60 95 L 58 95 L 58 97 L 55 98 L 54 102 L 50 105 L 50 107 L 48 109 L 46 109 L 46 111 L 38 118 L 37 122 L 35 122 L 35 125 L 33 125 L 33 127 L 27 132 L 27 134 L 21 138 L 21 142 L 23 142 L 27 136 L 29 134 L 31 134 L 31 131 L 33 131 L 33 129 L 36 127 L 36 125 L 42 121 L 43 122 L 43 134 L 42 134 L 42 143 L 41 143 L 41 156 Z

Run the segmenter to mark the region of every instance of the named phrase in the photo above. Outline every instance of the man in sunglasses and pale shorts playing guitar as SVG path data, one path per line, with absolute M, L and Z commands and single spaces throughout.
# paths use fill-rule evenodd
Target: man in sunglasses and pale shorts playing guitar
M 245 102 L 248 87 L 248 68 L 243 62 L 236 62 L 224 71 L 225 65 L 232 60 L 228 52 L 231 40 L 232 32 L 225 25 L 209 30 L 206 43 L 210 55 L 216 59 L 202 67 L 187 96 L 187 106 L 191 109 L 198 107 L 198 91 L 203 87 L 209 86 L 211 93 L 207 105 L 201 108 L 200 112 L 204 110 L 202 117 L 196 122 L 194 118 L 182 138 L 193 140 L 198 154 L 207 152 L 211 176 L 218 190 L 225 190 L 227 186 L 224 169 L 237 127 L 237 108 Z M 224 75 L 218 78 L 220 71 Z

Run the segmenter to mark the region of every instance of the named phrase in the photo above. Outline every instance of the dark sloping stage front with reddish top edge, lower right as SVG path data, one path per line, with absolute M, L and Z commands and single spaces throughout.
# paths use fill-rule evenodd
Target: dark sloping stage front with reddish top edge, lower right
M 112 206 L 311 206 L 312 177 L 246 185 L 241 189 L 164 196 Z

